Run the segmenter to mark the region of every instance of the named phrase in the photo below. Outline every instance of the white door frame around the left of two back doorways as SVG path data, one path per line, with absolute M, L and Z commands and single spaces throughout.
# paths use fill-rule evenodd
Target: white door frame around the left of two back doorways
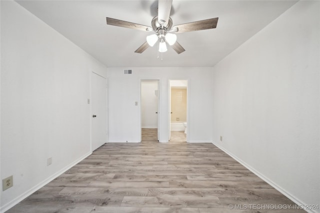
M 160 79 L 140 79 L 139 80 L 139 94 L 138 94 L 138 98 L 139 98 L 139 104 L 138 104 L 138 107 L 139 107 L 139 143 L 141 142 L 142 140 L 142 137 L 141 137 L 141 129 L 142 129 L 142 119 L 141 119 L 141 116 L 142 116 L 142 112 L 141 112 L 141 84 L 142 82 L 156 82 L 157 83 L 157 86 L 158 86 L 158 103 L 157 103 L 157 140 L 158 142 L 160 142 L 160 96 L 161 96 L 161 89 L 160 89 Z

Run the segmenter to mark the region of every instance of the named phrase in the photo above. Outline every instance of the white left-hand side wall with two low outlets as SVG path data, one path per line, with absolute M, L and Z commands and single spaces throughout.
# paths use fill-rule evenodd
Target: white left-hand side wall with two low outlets
M 0 3 L 0 179 L 13 175 L 3 212 L 91 153 L 90 73 L 106 68 L 16 2 Z

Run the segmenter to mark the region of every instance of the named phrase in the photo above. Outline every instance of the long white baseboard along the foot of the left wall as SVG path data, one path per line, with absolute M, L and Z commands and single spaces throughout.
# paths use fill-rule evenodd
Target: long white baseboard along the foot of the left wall
M 24 200 L 25 198 L 27 198 L 28 196 L 30 196 L 31 194 L 33 194 L 34 192 L 36 192 L 37 190 L 39 190 L 40 188 L 44 187 L 45 185 L 47 185 L 48 183 L 50 183 L 52 180 L 54 180 L 55 178 L 57 178 L 58 176 L 62 175 L 64 172 L 66 172 L 68 169 L 70 169 L 71 167 L 73 167 L 74 165 L 76 165 L 77 163 L 79 163 L 80 161 L 82 161 L 83 159 L 85 159 L 86 157 L 88 157 L 89 155 L 91 155 L 92 152 L 88 152 L 85 155 L 81 156 L 80 158 L 78 158 L 77 160 L 73 161 L 71 164 L 65 166 L 63 169 L 59 170 L 58 172 L 54 173 L 53 175 L 51 175 L 50 177 L 48 177 L 47 179 L 45 179 L 44 181 L 40 182 L 39 184 L 35 185 L 34 187 L 32 187 L 31 189 L 29 189 L 28 191 L 24 192 L 22 195 L 16 197 L 15 199 L 13 199 L 11 202 L 3 205 L 3 207 L 1 207 L 0 209 L 0 213 L 4 213 L 6 211 L 8 211 L 9 209 L 11 209 L 12 207 L 14 207 L 15 205 L 17 205 L 18 203 L 20 203 L 22 200 Z

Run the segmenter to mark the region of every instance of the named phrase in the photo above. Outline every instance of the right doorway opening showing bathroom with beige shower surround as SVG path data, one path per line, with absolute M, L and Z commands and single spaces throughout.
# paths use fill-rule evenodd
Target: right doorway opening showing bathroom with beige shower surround
M 188 80 L 169 80 L 169 141 L 187 142 Z

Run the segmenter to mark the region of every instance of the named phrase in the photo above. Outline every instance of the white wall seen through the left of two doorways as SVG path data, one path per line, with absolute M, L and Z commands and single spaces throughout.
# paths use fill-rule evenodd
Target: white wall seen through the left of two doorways
M 157 82 L 141 82 L 141 127 L 158 128 L 158 97 L 155 90 Z

